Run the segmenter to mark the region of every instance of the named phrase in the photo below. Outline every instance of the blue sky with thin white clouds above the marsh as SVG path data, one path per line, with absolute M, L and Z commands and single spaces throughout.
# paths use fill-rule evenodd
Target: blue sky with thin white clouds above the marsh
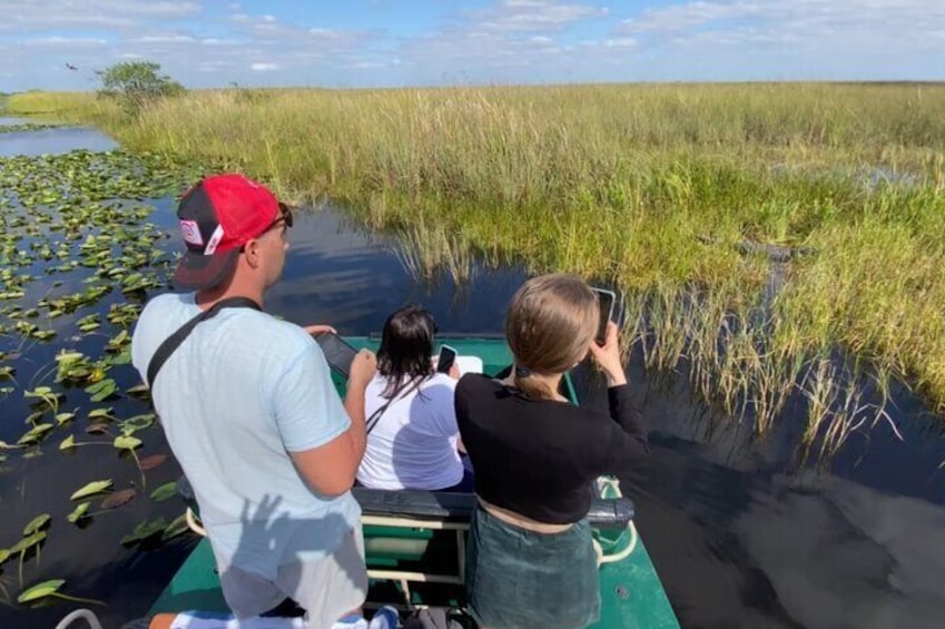
M 0 91 L 943 80 L 945 0 L 0 0 Z M 67 67 L 75 66 L 76 70 Z

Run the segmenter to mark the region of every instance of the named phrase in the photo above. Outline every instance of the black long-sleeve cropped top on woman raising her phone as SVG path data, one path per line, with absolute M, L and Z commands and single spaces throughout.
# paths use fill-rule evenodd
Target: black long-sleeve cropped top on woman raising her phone
M 456 421 L 485 501 L 538 522 L 587 515 L 590 483 L 649 452 L 628 385 L 608 390 L 610 413 L 535 400 L 481 374 L 456 385 Z

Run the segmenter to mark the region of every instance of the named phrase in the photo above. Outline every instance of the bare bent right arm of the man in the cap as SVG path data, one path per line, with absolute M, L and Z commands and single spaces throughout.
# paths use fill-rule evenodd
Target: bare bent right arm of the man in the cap
M 291 452 L 302 478 L 316 492 L 336 497 L 352 488 L 357 466 L 364 456 L 364 391 L 377 371 L 377 360 L 367 350 L 354 357 L 345 396 L 345 411 L 351 417 L 348 430 L 318 448 Z

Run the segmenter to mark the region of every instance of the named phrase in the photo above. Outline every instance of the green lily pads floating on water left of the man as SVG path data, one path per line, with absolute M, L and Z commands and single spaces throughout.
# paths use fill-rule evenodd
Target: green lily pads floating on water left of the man
M 83 528 L 121 509 L 146 488 L 146 471 L 166 459 L 138 453 L 147 452 L 155 415 L 130 366 L 129 326 L 147 292 L 166 285 L 173 263 L 158 246 L 165 232 L 149 220 L 151 204 L 178 194 L 199 170 L 125 151 L 0 158 L 0 376 L 9 384 L 3 394 L 17 392 L 27 406 L 23 434 L 14 444 L 0 442 L 0 462 L 10 465 L 0 473 L 17 471 L 26 501 L 30 459 L 106 446 L 119 453 L 116 479 L 124 480 L 119 462 L 127 459 L 140 479 L 120 489 L 112 479 L 86 482 L 71 501 L 63 495 L 59 510 L 35 517 L 22 539 L 0 552 L 4 561 L 19 558 L 20 588 L 24 571 L 39 574 L 42 546 L 59 543 L 51 522 L 62 518 Z M 77 441 L 83 429 L 91 436 Z M 50 449 L 53 435 L 58 446 Z M 98 499 L 99 509 L 90 510 Z M 27 562 L 33 553 L 35 566 Z M 56 583 L 45 581 L 17 600 L 79 600 Z M 10 583 L 0 586 L 9 599 Z

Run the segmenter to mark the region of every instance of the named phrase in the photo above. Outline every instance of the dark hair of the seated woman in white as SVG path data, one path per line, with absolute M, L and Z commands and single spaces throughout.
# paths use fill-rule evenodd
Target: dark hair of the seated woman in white
M 387 381 L 384 397 L 392 399 L 410 382 L 431 375 L 435 333 L 433 315 L 419 304 L 407 304 L 387 317 L 377 348 L 377 372 Z

